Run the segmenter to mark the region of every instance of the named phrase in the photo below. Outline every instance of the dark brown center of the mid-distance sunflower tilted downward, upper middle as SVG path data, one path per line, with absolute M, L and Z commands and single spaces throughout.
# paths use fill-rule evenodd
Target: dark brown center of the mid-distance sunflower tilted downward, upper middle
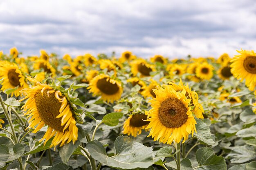
M 96 86 L 102 93 L 107 95 L 114 95 L 119 91 L 117 84 L 110 83 L 109 80 L 107 80 L 107 77 L 99 79 Z

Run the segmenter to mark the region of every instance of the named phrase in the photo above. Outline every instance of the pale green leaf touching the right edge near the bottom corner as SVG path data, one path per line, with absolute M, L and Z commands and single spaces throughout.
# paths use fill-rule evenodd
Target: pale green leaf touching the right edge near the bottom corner
M 254 146 L 235 146 L 232 151 L 227 155 L 232 163 L 245 163 L 256 158 Z

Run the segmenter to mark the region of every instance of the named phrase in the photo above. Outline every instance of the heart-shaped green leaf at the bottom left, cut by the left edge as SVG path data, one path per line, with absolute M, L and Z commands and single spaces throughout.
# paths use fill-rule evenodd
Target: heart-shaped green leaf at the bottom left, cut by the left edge
M 14 161 L 15 159 L 21 157 L 25 151 L 24 146 L 20 143 L 15 144 L 12 150 L 10 149 L 11 148 L 8 148 L 7 145 L 0 145 L 0 163 L 8 163 Z

